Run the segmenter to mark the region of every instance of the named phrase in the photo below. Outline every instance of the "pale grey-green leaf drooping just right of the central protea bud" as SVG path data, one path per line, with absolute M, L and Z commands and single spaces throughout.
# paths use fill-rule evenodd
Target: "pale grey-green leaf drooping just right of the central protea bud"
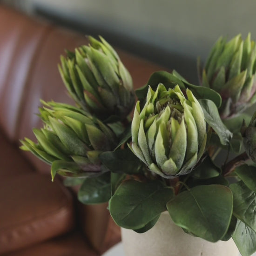
M 227 145 L 232 138 L 232 133 L 223 124 L 216 105 L 213 101 L 207 99 L 198 101 L 202 107 L 205 121 L 219 136 L 222 145 Z

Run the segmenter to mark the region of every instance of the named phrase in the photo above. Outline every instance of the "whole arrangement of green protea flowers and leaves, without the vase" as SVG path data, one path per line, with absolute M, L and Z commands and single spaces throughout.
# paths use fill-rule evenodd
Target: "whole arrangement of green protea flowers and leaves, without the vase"
M 108 42 L 88 39 L 59 65 L 76 107 L 42 101 L 37 143 L 21 148 L 50 164 L 53 180 L 81 184 L 82 203 L 108 202 L 121 227 L 145 232 L 168 210 L 190 235 L 232 237 L 243 256 L 255 252 L 256 114 L 243 112 L 256 102 L 250 34 L 216 42 L 198 62 L 200 85 L 158 71 L 136 92 Z

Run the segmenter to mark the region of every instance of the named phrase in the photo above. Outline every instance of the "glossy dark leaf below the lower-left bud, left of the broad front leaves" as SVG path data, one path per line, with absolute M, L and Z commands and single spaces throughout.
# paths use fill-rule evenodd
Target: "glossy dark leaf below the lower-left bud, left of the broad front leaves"
M 84 204 L 108 202 L 111 197 L 110 173 L 85 179 L 78 192 L 78 200 Z

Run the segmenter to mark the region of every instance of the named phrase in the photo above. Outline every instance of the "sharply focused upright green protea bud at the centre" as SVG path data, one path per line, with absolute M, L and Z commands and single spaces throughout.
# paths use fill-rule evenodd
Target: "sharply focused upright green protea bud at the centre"
M 132 121 L 134 154 L 155 174 L 170 178 L 189 173 L 206 144 L 206 122 L 199 102 L 179 86 L 148 88 L 147 101 L 136 104 Z

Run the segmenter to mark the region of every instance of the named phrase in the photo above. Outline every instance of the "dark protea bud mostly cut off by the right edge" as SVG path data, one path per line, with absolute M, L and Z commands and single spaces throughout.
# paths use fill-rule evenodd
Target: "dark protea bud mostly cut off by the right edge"
M 256 112 L 252 116 L 249 126 L 246 126 L 243 121 L 241 134 L 246 154 L 253 162 L 256 162 Z

